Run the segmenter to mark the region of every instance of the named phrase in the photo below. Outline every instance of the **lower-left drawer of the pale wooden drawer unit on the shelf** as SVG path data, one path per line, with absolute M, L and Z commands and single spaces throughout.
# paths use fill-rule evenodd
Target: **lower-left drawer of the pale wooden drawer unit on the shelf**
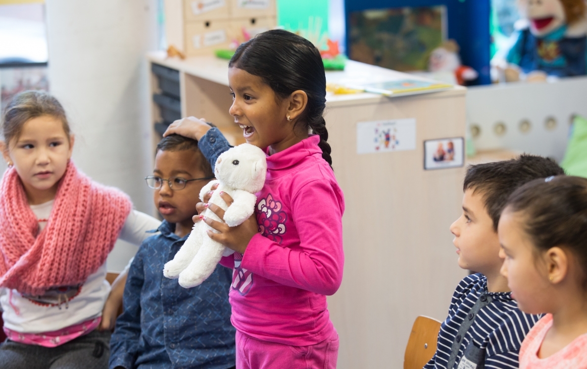
M 185 53 L 189 56 L 212 55 L 216 49 L 227 49 L 232 38 L 228 19 L 185 22 Z

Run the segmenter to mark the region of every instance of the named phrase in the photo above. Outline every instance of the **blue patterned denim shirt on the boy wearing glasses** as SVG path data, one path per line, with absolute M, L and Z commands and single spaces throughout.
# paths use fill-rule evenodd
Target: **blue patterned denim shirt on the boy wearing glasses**
M 163 276 L 187 236 L 163 221 L 130 265 L 124 312 L 110 340 L 110 368 L 226 369 L 235 365 L 235 329 L 228 289 L 232 271 L 220 265 L 200 286 L 183 288 Z M 155 232 L 155 231 L 153 231 Z

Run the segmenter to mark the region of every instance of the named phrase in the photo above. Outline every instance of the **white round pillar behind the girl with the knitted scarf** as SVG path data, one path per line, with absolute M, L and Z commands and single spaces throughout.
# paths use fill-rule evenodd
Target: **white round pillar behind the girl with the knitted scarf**
M 50 92 L 76 135 L 73 160 L 153 213 L 143 180 L 153 155 L 144 55 L 157 46 L 157 1 L 48 0 L 46 12 Z M 120 271 L 134 251 L 119 242 L 109 270 Z

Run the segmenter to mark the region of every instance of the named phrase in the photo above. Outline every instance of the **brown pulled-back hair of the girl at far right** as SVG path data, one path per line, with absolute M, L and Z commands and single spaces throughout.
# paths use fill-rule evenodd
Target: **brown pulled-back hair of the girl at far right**
M 534 180 L 515 190 L 505 209 L 522 214 L 537 251 L 559 246 L 578 257 L 587 287 L 587 178 Z

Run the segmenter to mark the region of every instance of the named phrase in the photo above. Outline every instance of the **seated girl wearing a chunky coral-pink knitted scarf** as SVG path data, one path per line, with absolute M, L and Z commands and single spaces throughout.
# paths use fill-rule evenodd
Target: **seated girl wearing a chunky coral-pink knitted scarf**
M 76 169 L 74 136 L 49 94 L 16 95 L 3 122 L 0 308 L 8 339 L 0 363 L 107 368 L 115 316 L 104 306 L 120 297 L 109 298 L 106 258 L 117 238 L 140 245 L 159 222 Z

